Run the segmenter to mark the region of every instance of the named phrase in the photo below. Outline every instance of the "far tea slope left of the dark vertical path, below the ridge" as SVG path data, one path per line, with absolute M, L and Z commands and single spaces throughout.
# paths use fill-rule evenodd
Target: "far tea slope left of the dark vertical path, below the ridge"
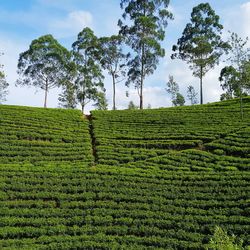
M 91 162 L 80 111 L 0 105 L 0 163 Z

